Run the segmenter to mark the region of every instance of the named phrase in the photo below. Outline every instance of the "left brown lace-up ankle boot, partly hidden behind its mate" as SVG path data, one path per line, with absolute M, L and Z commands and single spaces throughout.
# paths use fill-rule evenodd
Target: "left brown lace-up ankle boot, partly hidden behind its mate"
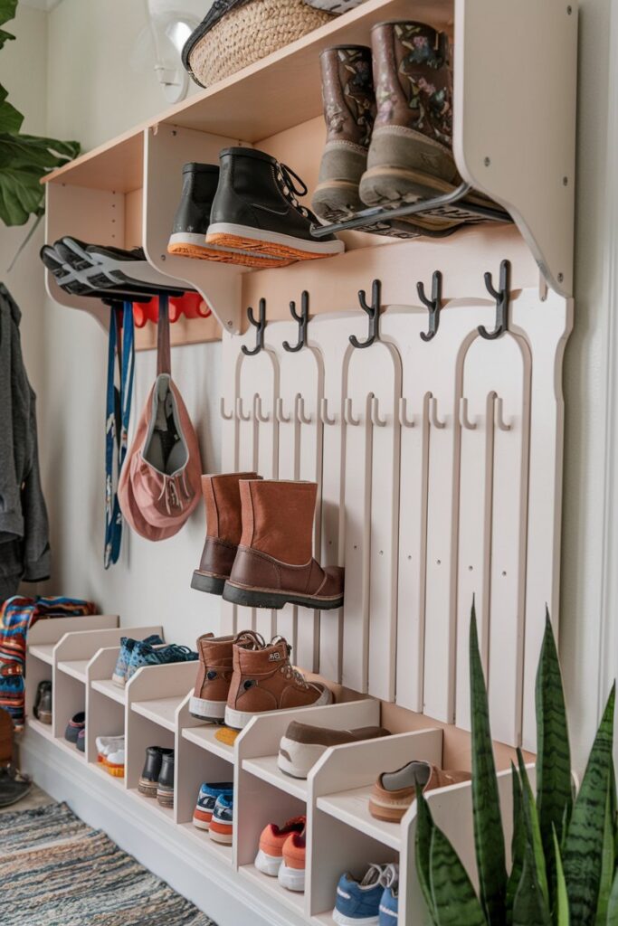
M 206 633 L 199 637 L 195 648 L 199 654 L 199 669 L 195 691 L 189 701 L 189 713 L 198 720 L 222 723 L 233 676 L 233 645 L 260 649 L 264 640 L 258 633 L 243 631 L 232 636 L 214 637 Z

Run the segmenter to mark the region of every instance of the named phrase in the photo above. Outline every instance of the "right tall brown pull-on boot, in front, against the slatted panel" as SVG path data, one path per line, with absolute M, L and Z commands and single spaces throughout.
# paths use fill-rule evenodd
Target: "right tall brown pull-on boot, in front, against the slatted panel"
M 243 535 L 223 598 L 247 607 L 341 607 L 344 570 L 312 558 L 315 482 L 240 482 Z

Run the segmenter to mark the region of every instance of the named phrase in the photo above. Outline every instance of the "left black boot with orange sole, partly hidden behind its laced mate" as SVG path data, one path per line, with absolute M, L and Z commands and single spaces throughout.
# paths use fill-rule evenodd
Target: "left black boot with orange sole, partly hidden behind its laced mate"
M 281 261 L 276 257 L 263 257 L 259 254 L 252 254 L 250 251 L 231 252 L 226 247 L 206 244 L 206 234 L 210 225 L 210 209 L 218 184 L 218 164 L 190 163 L 184 165 L 183 192 L 174 218 L 168 253 L 262 269 L 281 266 Z

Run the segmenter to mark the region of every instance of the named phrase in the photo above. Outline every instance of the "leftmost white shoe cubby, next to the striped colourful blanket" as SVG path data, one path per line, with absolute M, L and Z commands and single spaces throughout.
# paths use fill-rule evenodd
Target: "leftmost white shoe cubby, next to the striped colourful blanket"
M 118 627 L 115 615 L 92 614 L 76 618 L 54 618 L 37 620 L 28 631 L 26 644 L 26 722 L 50 739 L 54 737 L 52 724 L 41 723 L 34 717 L 32 707 L 39 682 L 52 682 L 54 675 L 54 650 L 67 633 L 78 631 L 99 631 Z M 52 715 L 53 717 L 53 715 Z

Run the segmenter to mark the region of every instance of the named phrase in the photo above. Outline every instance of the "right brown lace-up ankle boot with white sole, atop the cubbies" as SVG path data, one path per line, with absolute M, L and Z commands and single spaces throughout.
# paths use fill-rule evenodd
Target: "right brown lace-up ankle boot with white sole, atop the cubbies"
M 233 679 L 225 708 L 225 723 L 242 730 L 256 714 L 294 707 L 331 704 L 333 694 L 326 685 L 307 682 L 290 663 L 290 650 L 283 637 L 275 637 L 259 650 L 233 646 Z

